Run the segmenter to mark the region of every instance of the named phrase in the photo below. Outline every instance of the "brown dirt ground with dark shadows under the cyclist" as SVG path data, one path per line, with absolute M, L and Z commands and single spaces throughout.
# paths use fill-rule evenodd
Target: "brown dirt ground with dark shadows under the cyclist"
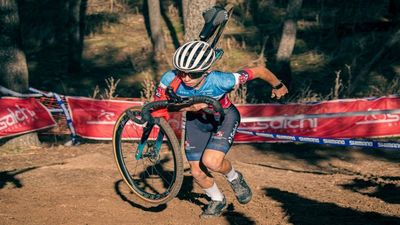
M 216 176 L 228 210 L 200 219 L 206 198 L 187 170 L 178 197 L 146 206 L 122 181 L 111 143 L 0 148 L 0 224 L 400 224 L 398 151 L 237 144 L 228 158 L 253 200 L 240 205 Z

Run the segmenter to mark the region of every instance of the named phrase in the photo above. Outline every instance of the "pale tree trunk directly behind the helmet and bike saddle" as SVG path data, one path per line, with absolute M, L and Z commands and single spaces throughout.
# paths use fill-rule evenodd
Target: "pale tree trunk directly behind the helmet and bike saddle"
M 215 5 L 216 0 L 182 0 L 185 42 L 199 38 L 204 25 L 203 11 Z

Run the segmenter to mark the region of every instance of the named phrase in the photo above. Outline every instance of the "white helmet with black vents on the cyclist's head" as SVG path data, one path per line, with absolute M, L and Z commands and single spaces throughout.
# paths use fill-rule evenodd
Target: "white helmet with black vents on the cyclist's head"
M 172 61 L 180 71 L 197 73 L 208 70 L 215 60 L 215 51 L 207 42 L 190 41 L 175 51 Z

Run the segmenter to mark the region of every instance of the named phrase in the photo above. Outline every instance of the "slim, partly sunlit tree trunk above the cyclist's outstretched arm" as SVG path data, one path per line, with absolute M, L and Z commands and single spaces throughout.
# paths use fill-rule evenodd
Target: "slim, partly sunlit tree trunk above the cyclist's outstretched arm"
M 282 37 L 276 54 L 277 73 L 289 86 L 292 80 L 290 58 L 296 42 L 296 19 L 300 12 L 303 0 L 289 0 L 286 8 L 286 19 L 283 24 Z

